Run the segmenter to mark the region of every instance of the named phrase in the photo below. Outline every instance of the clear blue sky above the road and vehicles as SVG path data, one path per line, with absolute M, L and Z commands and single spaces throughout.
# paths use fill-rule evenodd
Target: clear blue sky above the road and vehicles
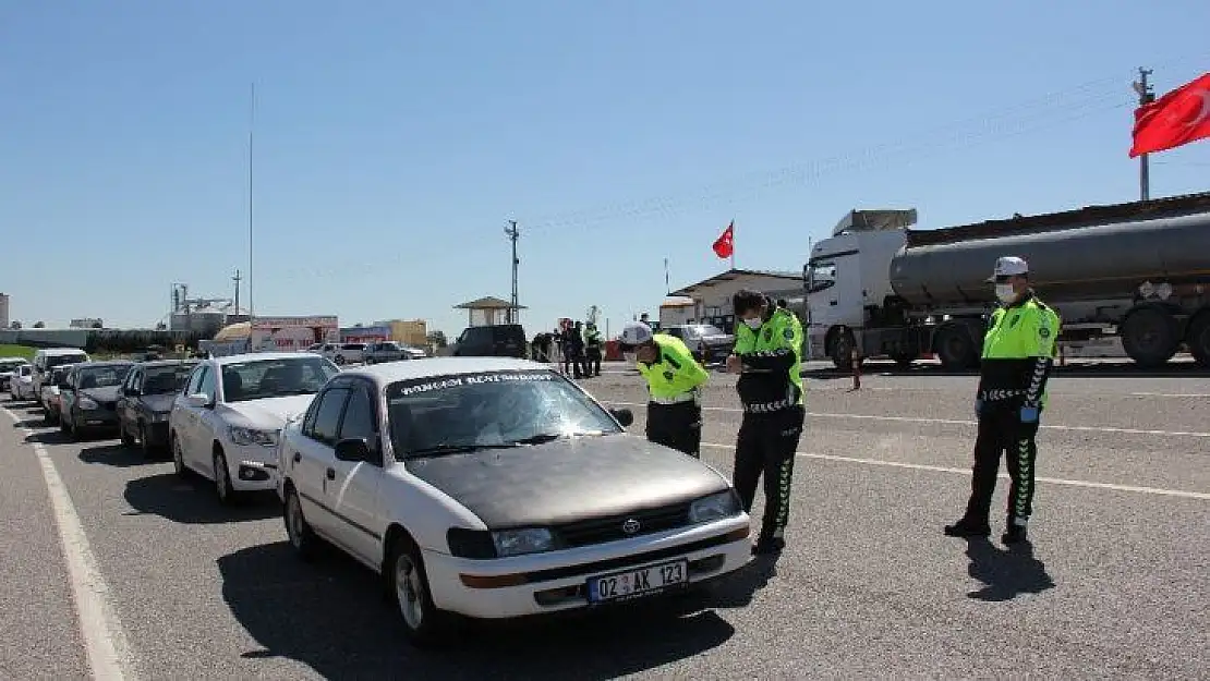
M 509 293 L 613 333 L 851 208 L 945 226 L 1137 197 L 1135 69 L 1210 71 L 1210 2 L 0 1 L 0 292 L 151 325 L 247 270 L 258 314 L 430 319 Z M 1210 142 L 1152 194 L 1210 190 Z

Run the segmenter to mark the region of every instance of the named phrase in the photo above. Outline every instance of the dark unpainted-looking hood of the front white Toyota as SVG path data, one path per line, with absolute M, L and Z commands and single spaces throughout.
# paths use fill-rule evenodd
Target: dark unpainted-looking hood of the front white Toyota
M 492 530 L 657 508 L 730 487 L 697 458 L 629 434 L 411 458 L 405 468 Z

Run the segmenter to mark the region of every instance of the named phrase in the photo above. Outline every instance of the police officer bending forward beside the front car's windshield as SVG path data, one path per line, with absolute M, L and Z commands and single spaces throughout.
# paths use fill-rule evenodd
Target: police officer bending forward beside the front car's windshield
M 647 439 L 699 458 L 702 386 L 710 375 L 680 339 L 653 334 L 643 322 L 627 324 L 618 345 L 635 353 L 647 380 Z

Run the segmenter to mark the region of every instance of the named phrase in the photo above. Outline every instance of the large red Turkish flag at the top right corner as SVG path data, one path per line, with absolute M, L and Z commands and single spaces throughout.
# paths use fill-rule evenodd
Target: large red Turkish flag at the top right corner
M 1210 74 L 1135 110 L 1130 157 L 1210 137 Z

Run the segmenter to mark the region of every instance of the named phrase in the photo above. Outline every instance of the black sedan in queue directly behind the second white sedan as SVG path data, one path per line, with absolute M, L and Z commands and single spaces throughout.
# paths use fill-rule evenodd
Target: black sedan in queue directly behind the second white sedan
M 122 444 L 152 451 L 168 446 L 168 414 L 197 359 L 157 359 L 136 364 L 117 394 L 117 433 Z

